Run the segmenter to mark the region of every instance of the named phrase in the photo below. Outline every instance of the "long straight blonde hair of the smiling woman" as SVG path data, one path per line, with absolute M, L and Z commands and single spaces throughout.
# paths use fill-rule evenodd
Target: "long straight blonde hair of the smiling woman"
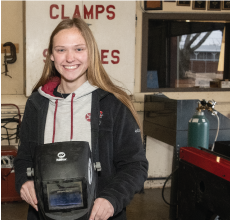
M 125 91 L 123 91 L 122 88 L 116 86 L 109 78 L 104 67 L 102 66 L 95 38 L 88 25 L 81 18 L 65 19 L 61 21 L 54 29 L 53 33 L 50 36 L 50 42 L 43 73 L 40 80 L 35 85 L 33 92 L 37 91 L 40 86 L 45 85 L 51 78 L 55 76 L 61 77 L 60 73 L 58 73 L 54 66 L 54 62 L 50 59 L 53 49 L 53 39 L 54 36 L 61 30 L 69 29 L 72 27 L 76 27 L 81 32 L 86 42 L 89 57 L 89 66 L 86 70 L 86 76 L 89 83 L 107 92 L 113 93 L 114 96 L 116 96 L 124 105 L 128 107 L 139 127 L 141 128 L 137 112 L 134 109 L 130 97 Z

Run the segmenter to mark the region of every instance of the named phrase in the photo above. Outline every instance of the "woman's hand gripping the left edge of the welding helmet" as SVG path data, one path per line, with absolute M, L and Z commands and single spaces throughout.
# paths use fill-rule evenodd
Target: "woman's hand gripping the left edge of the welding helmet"
M 38 211 L 38 200 L 35 194 L 34 181 L 25 182 L 20 190 L 20 195 L 23 200 L 25 200 Z

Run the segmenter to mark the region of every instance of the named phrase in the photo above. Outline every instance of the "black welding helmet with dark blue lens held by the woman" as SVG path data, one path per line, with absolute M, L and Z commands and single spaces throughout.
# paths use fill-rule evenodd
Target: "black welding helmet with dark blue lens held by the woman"
M 36 148 L 34 183 L 42 220 L 88 220 L 97 171 L 89 143 L 69 141 Z

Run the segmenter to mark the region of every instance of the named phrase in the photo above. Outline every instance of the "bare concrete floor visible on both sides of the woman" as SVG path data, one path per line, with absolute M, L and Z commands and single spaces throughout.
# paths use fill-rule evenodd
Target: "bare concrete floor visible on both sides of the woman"
M 170 188 L 165 189 L 165 198 L 169 201 Z M 25 202 L 1 204 L 2 220 L 26 220 L 28 205 Z M 128 220 L 168 220 L 169 206 L 161 198 L 161 189 L 148 189 L 136 194 L 127 207 Z

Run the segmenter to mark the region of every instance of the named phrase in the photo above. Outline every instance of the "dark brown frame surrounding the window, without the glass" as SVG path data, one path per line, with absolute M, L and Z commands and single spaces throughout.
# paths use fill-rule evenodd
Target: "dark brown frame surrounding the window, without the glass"
M 230 91 L 230 88 L 147 88 L 148 68 L 148 25 L 150 19 L 158 20 L 191 20 L 195 21 L 224 21 L 229 26 L 225 39 L 230 39 L 230 16 L 229 13 L 143 13 L 142 19 L 142 58 L 141 58 L 141 92 L 207 92 L 207 91 Z M 227 54 L 229 53 L 229 54 Z M 169 77 L 169 76 L 167 76 Z M 230 79 L 230 40 L 225 40 L 224 79 Z

